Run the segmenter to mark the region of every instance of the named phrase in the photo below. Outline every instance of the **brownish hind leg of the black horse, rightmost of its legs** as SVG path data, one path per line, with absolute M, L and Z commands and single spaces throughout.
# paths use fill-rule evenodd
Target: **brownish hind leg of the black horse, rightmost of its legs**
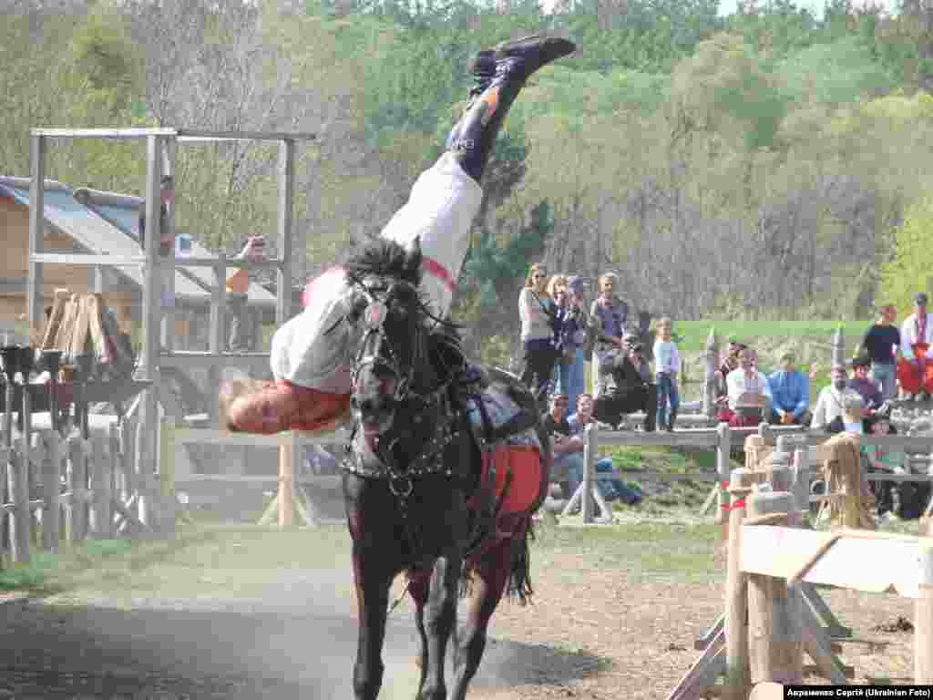
M 503 539 L 483 554 L 472 572 L 472 593 L 466 601 L 466 620 L 457 630 L 453 657 L 452 700 L 464 700 L 466 687 L 480 667 L 486 649 L 490 618 L 506 590 L 511 564 L 511 540 Z

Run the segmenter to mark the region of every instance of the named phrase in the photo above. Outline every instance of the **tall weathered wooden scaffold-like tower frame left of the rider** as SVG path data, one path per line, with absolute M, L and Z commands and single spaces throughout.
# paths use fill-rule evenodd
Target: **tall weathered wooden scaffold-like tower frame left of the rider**
M 140 255 L 137 250 L 120 255 L 93 255 L 52 253 L 46 250 L 44 235 L 44 197 L 46 181 L 46 152 L 49 142 L 55 139 L 104 138 L 104 139 L 141 139 L 146 142 L 146 247 Z M 224 366 L 242 369 L 268 368 L 269 356 L 263 353 L 249 355 L 225 353 L 223 338 L 223 310 L 226 306 L 225 281 L 231 267 L 272 267 L 276 272 L 277 292 L 275 323 L 281 326 L 290 317 L 291 279 L 302 277 L 304 271 L 304 235 L 293 231 L 293 199 L 295 183 L 295 147 L 296 142 L 312 140 L 313 134 L 301 133 L 250 133 L 250 132 L 204 132 L 185 129 L 146 128 L 146 129 L 34 129 L 31 134 L 31 175 L 29 190 L 29 248 L 27 321 L 29 328 L 39 325 L 42 317 L 45 289 L 45 268 L 47 265 L 83 266 L 86 270 L 120 266 L 142 267 L 142 339 L 138 378 L 151 382 L 140 403 L 139 440 L 135 445 L 135 458 L 140 465 L 137 475 L 144 488 L 141 494 L 159 493 L 155 480 L 159 474 L 158 446 L 160 415 L 157 397 L 160 387 L 160 368 L 173 366 L 178 368 L 205 368 L 209 372 L 208 395 L 216 395 L 220 383 L 220 371 Z M 176 148 L 186 142 L 210 142 L 219 140 L 259 140 L 279 144 L 278 164 L 278 217 L 277 217 L 277 253 L 276 259 L 262 262 L 216 258 L 191 257 L 176 259 L 174 250 L 171 257 L 160 258 L 160 180 L 162 175 L 174 171 L 174 153 Z M 169 210 L 172 217 L 172 210 Z M 171 220 L 171 219 L 170 219 Z M 295 253 L 298 253 L 297 255 Z M 211 297 L 210 333 L 207 352 L 172 352 L 174 342 L 171 330 L 166 332 L 162 345 L 168 350 L 160 352 L 160 325 L 163 317 L 171 313 L 160 306 L 160 268 L 170 265 L 174 268 L 207 269 L 214 274 L 214 286 Z M 171 329 L 172 325 L 168 324 Z M 174 416 L 181 417 L 181 416 Z M 163 499 L 169 500 L 171 499 Z M 150 508 L 154 504 L 146 503 L 145 496 L 135 504 L 138 507 L 139 520 L 144 524 L 150 518 L 158 521 L 158 513 L 152 518 Z

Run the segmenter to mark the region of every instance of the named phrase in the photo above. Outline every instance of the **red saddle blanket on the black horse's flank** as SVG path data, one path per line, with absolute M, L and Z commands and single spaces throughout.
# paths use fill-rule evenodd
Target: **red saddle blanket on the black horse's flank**
M 493 466 L 495 483 L 491 484 Z M 502 498 L 500 515 L 530 511 L 542 496 L 543 469 L 541 454 L 536 446 L 505 444 L 496 447 L 492 452 L 483 452 L 480 488 L 470 497 L 467 505 L 479 505 L 481 491 L 485 485 L 486 488 L 493 487 L 494 502 Z

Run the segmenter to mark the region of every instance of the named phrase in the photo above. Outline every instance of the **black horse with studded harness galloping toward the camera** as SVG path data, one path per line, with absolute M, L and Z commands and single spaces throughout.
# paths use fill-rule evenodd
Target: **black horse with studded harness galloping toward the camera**
M 341 322 L 362 333 L 353 368 L 354 434 L 343 465 L 359 615 L 357 700 L 375 698 L 382 686 L 389 593 L 401 572 L 421 637 L 417 697 L 448 697 L 444 657 L 452 633 L 450 696 L 466 696 L 502 595 L 523 602 L 531 594 L 531 516 L 550 476 L 550 443 L 533 397 L 506 372 L 471 370 L 455 328 L 432 315 L 419 293 L 421 262 L 417 241 L 410 249 L 378 242 L 345 266 L 355 292 Z M 498 496 L 495 478 L 483 470 L 483 450 L 497 436 L 490 429 L 477 435 L 466 408 L 470 392 L 490 383 L 522 406 L 525 427 L 536 431 L 540 445 L 534 483 L 505 469 L 507 492 Z M 527 507 L 509 511 L 503 507 L 508 489 L 522 491 L 522 479 L 534 495 Z M 468 615 L 456 630 L 463 594 Z

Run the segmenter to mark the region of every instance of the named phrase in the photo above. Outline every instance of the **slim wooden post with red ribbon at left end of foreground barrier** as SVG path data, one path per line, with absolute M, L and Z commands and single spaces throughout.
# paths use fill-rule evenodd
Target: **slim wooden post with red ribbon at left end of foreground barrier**
M 729 493 L 729 550 L 726 568 L 726 700 L 745 700 L 751 690 L 748 663 L 748 577 L 742 572 L 742 523 L 745 498 L 752 492 L 753 473 L 732 469 Z

